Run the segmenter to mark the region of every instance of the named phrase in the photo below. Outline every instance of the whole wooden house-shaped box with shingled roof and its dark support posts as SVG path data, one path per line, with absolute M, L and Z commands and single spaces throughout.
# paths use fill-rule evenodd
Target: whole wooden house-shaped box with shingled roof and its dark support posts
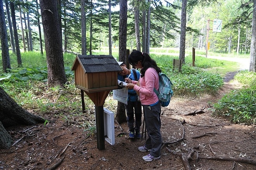
M 112 55 L 78 55 L 71 68 L 75 86 L 81 90 L 82 109 L 85 110 L 84 92 L 95 104 L 97 148 L 105 149 L 104 109 L 105 99 L 118 86 L 121 66 Z

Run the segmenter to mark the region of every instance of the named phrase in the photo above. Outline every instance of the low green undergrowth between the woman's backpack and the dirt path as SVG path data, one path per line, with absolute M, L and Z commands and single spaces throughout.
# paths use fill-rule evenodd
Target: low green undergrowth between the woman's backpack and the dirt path
M 182 66 L 182 72 L 179 73 L 177 70 L 173 70 L 172 61 L 175 56 L 168 55 L 151 55 L 158 63 L 162 72 L 169 76 L 173 83 L 174 95 L 203 95 L 203 94 L 214 94 L 218 89 L 223 86 L 223 78 L 219 74 L 209 73 L 204 71 L 202 68 L 223 66 L 223 62 L 216 59 L 207 59 L 198 57 L 197 64 L 200 67 L 192 67 L 192 56 L 186 57 L 186 63 Z M 216 61 L 216 62 L 212 62 Z M 208 64 L 211 63 L 211 64 Z M 207 65 L 207 66 L 206 66 Z

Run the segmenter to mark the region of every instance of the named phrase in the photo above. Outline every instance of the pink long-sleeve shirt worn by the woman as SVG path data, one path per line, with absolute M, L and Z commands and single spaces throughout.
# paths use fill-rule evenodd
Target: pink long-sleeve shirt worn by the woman
M 140 102 L 143 105 L 154 104 L 158 101 L 157 95 L 154 92 L 154 88 L 158 90 L 159 88 L 159 77 L 157 71 L 154 68 L 148 68 L 145 71 L 145 76 L 140 77 L 140 86 L 135 85 L 133 90 L 140 93 Z M 137 81 L 132 81 L 136 84 Z

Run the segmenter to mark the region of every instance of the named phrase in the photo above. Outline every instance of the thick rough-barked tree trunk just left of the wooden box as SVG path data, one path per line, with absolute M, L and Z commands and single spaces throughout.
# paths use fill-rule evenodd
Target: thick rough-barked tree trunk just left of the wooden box
M 45 35 L 48 87 L 63 86 L 67 82 L 67 78 L 64 70 L 57 2 L 55 0 L 40 0 L 40 9 Z

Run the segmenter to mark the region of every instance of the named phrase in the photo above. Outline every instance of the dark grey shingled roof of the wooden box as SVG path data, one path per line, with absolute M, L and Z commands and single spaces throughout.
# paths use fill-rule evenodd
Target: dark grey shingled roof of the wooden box
M 85 73 L 122 71 L 122 68 L 112 55 L 78 55 L 71 68 L 74 70 L 75 63 L 79 61 Z

